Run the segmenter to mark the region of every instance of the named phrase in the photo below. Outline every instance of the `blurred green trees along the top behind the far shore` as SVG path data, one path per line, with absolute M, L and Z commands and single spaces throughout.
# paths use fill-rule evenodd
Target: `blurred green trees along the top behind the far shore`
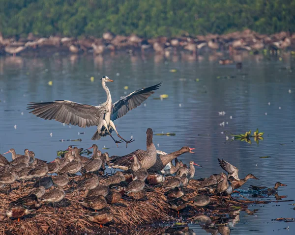
M 4 36 L 295 32 L 295 0 L 0 0 Z

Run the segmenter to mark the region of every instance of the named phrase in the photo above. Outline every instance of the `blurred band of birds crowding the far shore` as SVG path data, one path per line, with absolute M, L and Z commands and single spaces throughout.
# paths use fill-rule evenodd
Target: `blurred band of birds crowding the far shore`
M 42 48 L 56 48 L 59 51 L 75 54 L 93 52 L 94 55 L 102 55 L 105 52 L 115 52 L 116 50 L 127 50 L 129 53 L 134 53 L 135 49 L 140 49 L 142 53 L 153 50 L 158 54 L 165 54 L 165 56 L 169 56 L 171 53 L 176 54 L 177 50 L 196 54 L 203 48 L 209 48 L 214 52 L 217 50 L 259 52 L 264 49 L 277 52 L 291 48 L 294 43 L 295 34 L 290 35 L 289 32 L 265 35 L 249 29 L 225 35 L 183 35 L 174 38 L 157 37 L 154 39 L 141 38 L 135 34 L 123 36 L 105 32 L 102 38 L 87 37 L 79 40 L 59 36 L 40 38 L 29 33 L 27 38 L 17 40 L 16 38 L 4 39 L 0 33 L 0 54 L 16 55 L 28 50 L 42 50 Z

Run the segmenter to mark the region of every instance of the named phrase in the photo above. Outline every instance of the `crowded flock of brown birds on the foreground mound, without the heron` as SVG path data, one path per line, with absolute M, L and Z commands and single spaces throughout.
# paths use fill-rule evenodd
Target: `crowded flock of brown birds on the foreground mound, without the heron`
M 153 131 L 148 128 L 147 149 L 136 150 L 125 156 L 109 157 L 108 153 L 102 153 L 98 150 L 97 145 L 93 144 L 90 147 L 93 149 L 93 155 L 89 158 L 80 155 L 82 149 L 69 146 L 64 157 L 57 157 L 49 163 L 36 158 L 34 152 L 28 149 L 25 149 L 24 155 L 18 155 L 14 149 L 10 149 L 3 155 L 11 153 L 12 161 L 9 162 L 3 155 L 0 155 L 0 188 L 16 181 L 22 184 L 34 179 L 36 181 L 28 195 L 9 203 L 6 215 L 19 220 L 38 209 L 41 203 L 53 203 L 55 207 L 55 203 L 66 197 L 63 187 L 72 184 L 78 193 L 81 190 L 87 191 L 85 199 L 79 203 L 91 211 L 95 210 L 88 214 L 89 220 L 105 224 L 113 219 L 112 214 L 105 210 L 108 204 L 118 203 L 123 195 L 140 200 L 145 198 L 146 189 L 161 187 L 167 197 L 168 207 L 179 211 L 186 208 L 187 204 L 194 207 L 206 207 L 212 195 L 220 195 L 222 204 L 225 205 L 225 196 L 231 195 L 247 180 L 258 179 L 252 174 L 239 179 L 238 169 L 235 166 L 223 159 L 218 159 L 220 166 L 228 175 L 222 172 L 199 180 L 199 186 L 194 189 L 198 192 L 198 196 L 188 199 L 182 189 L 194 178 L 195 165 L 200 165 L 190 161 L 188 167 L 182 161 L 178 161 L 177 157 L 184 153 L 193 153 L 194 149 L 182 147 L 176 152 L 166 154 L 156 150 L 152 137 Z M 173 160 L 176 161 L 175 165 Z M 112 176 L 109 174 L 104 176 L 105 166 L 122 171 L 117 171 L 111 174 Z M 70 180 L 79 172 L 83 178 L 81 182 Z M 100 184 L 98 175 L 105 177 L 106 181 Z M 276 183 L 274 188 L 251 186 L 251 190 L 258 194 L 270 195 L 275 193 L 279 186 L 286 185 Z

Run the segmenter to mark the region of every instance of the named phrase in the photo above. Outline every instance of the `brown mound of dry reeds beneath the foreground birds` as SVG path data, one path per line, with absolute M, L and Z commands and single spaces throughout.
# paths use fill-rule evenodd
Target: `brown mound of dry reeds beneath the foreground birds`
M 99 177 L 100 183 L 106 181 L 106 176 Z M 42 203 L 39 209 L 32 211 L 29 215 L 17 220 L 12 220 L 6 216 L 8 204 L 16 199 L 26 196 L 32 189 L 34 182 L 27 182 L 24 185 L 14 183 L 11 185 L 12 191 L 7 195 L 6 189 L 0 191 L 0 231 L 1 234 L 101 234 L 101 233 L 126 233 L 135 230 L 141 231 L 140 227 L 153 224 L 155 222 L 173 221 L 177 217 L 177 212 L 168 208 L 168 200 L 164 195 L 165 191 L 161 187 L 147 188 L 146 197 L 141 200 L 134 200 L 123 196 L 119 203 L 109 205 L 113 221 L 101 228 L 98 224 L 88 220 L 85 214 L 91 212 L 79 201 L 83 201 L 86 196 L 85 191 L 77 193 L 76 183 L 82 180 L 82 176 L 75 176 L 72 181 L 64 187 L 65 199 L 56 203 L 56 209 L 52 204 Z M 187 188 L 183 191 L 189 198 L 198 195 L 196 188 L 199 184 L 197 180 L 191 180 Z M 226 200 L 225 205 L 221 203 L 219 196 L 211 196 L 211 203 L 206 208 L 194 208 L 188 206 L 187 215 L 191 213 L 212 213 L 220 209 L 230 209 L 231 206 L 246 208 L 245 202 Z M 189 216 L 188 216 L 189 217 Z M 149 228 L 152 231 L 152 228 Z M 157 234 L 159 230 L 150 232 Z

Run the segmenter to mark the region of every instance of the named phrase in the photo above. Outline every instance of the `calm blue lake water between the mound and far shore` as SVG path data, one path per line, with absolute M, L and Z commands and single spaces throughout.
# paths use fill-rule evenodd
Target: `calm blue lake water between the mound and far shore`
M 94 142 L 95 127 L 82 129 L 63 126 L 56 121 L 38 118 L 26 110 L 29 101 L 71 100 L 97 105 L 106 100 L 100 78 L 113 79 L 108 83 L 113 102 L 124 94 L 163 81 L 162 86 L 143 105 L 118 119 L 118 132 L 135 142 L 116 147 L 107 136 L 97 141 L 110 155 L 125 155 L 146 148 L 146 129 L 154 133 L 174 132 L 175 136 L 154 136 L 157 149 L 173 152 L 182 146 L 196 148 L 195 154 L 180 157 L 204 166 L 195 178 L 220 173 L 217 157 L 224 158 L 239 169 L 243 178 L 252 173 L 260 180 L 249 184 L 279 188 L 283 200 L 295 199 L 295 71 L 294 57 L 249 55 L 242 57 L 242 71 L 235 64 L 219 65 L 214 56 L 163 59 L 162 56 L 48 56 L 0 57 L 0 153 L 15 148 L 23 153 L 33 150 L 36 157 L 53 160 L 56 151 L 68 145 L 88 148 Z M 90 78 L 94 77 L 91 82 Z M 52 85 L 48 82 L 52 81 Z M 124 87 L 128 86 L 125 90 Z M 168 99 L 158 100 L 167 94 Z M 219 115 L 224 111 L 225 115 Z M 224 124 L 224 125 L 223 125 Z M 259 145 L 232 140 L 230 133 L 265 132 Z M 84 134 L 79 134 L 84 132 Z M 52 133 L 52 134 L 51 134 Z M 52 136 L 51 136 L 52 135 Z M 226 136 L 229 137 L 227 140 Z M 81 142 L 60 140 L 75 140 Z M 270 156 L 270 158 L 260 158 Z M 11 159 L 11 155 L 6 155 Z M 275 200 L 269 197 L 264 200 Z M 249 206 L 254 214 L 241 211 L 237 223 L 231 223 L 231 234 L 290 234 L 294 223 L 273 222 L 279 217 L 295 217 L 292 202 Z M 283 229 L 289 226 L 289 231 Z M 198 224 L 189 224 L 197 234 L 207 234 Z

